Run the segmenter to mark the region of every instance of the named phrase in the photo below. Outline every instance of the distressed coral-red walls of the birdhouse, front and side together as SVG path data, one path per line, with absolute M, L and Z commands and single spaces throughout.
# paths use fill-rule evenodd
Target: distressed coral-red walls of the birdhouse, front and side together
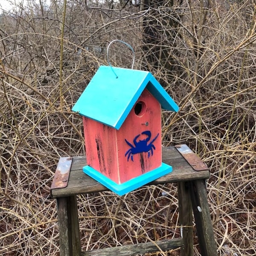
M 118 184 L 156 169 L 162 162 L 160 103 L 147 89 L 137 102 L 143 102 L 141 112 L 135 113 L 135 104 L 119 130 L 83 117 L 88 165 Z M 159 134 L 153 143 L 156 149 L 153 149 L 153 155 L 150 152 L 150 157 L 147 152 L 143 152 L 134 154 L 134 161 L 131 157 L 128 161 L 125 153 L 131 147 L 125 139 L 134 145 L 134 137 L 143 131 L 151 131 L 148 144 Z M 137 141 L 146 137 L 142 134 Z

